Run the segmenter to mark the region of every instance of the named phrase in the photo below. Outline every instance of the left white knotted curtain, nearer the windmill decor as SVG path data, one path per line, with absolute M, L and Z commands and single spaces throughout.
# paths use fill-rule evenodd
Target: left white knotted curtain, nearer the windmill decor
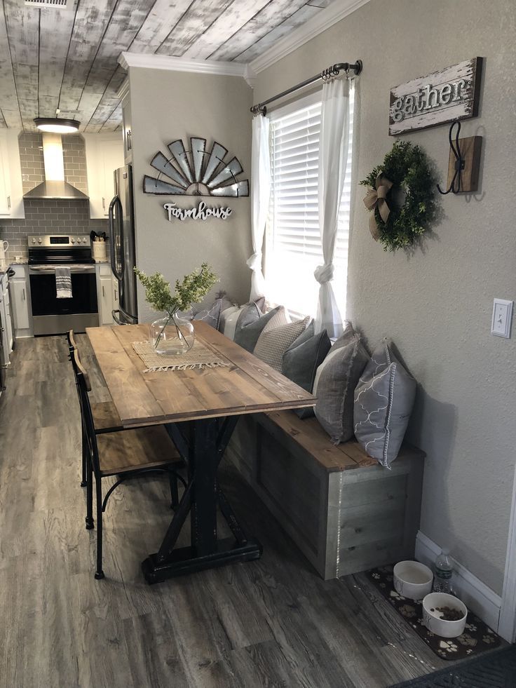
M 262 246 L 270 198 L 269 118 L 259 114 L 252 120 L 251 236 L 253 254 L 247 260 L 247 265 L 252 270 L 250 301 L 259 296 L 264 296 Z

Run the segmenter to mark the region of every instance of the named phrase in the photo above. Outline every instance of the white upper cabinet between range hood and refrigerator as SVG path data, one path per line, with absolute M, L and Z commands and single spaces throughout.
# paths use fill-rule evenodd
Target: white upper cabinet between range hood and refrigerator
M 120 134 L 83 134 L 86 144 L 88 196 L 92 220 L 107 218 L 115 194 L 114 170 L 123 167 L 123 140 Z

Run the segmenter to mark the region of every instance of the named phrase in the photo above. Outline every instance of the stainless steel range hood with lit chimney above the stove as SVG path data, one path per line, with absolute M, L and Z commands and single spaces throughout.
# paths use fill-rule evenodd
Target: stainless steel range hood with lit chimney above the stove
M 64 181 L 62 140 L 60 134 L 43 134 L 45 181 L 27 191 L 23 198 L 45 201 L 88 201 L 88 196 Z

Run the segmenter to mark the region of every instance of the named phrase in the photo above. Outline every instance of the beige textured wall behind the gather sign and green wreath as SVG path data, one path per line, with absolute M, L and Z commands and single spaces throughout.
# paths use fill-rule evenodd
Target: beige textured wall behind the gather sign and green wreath
M 480 117 L 461 135 L 484 137 L 482 189 L 442 198 L 423 250 L 383 252 L 357 187 L 348 318 L 374 346 L 392 337 L 419 381 L 409 436 L 428 453 L 421 530 L 501 593 L 516 447 L 516 328 L 489 333 L 494 297 L 516 297 L 516 128 L 513 0 L 371 0 L 259 74 L 264 100 L 334 62 L 362 58 L 355 182 L 393 144 L 389 89 L 480 55 Z M 447 126 L 408 135 L 445 183 Z M 315 288 L 315 285 L 314 285 Z

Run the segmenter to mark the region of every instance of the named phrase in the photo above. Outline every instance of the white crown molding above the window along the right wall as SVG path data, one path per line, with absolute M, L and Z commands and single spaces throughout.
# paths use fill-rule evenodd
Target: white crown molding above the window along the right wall
M 307 43 L 318 34 L 337 24 L 341 19 L 347 17 L 359 7 L 365 5 L 369 0 L 335 0 L 330 6 L 318 12 L 306 24 L 295 29 L 284 39 L 275 43 L 272 48 L 266 50 L 259 58 L 255 58 L 249 63 L 254 74 L 263 72 L 267 67 L 271 67 L 275 62 L 284 58 L 285 55 L 292 53 Z M 351 56 L 353 57 L 353 56 Z M 353 58 L 354 59 L 354 58 Z

